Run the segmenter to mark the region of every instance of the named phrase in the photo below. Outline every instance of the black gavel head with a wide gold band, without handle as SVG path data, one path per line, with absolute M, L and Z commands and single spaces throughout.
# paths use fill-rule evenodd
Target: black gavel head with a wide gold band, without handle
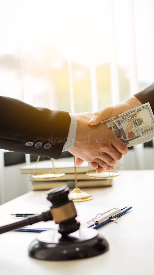
M 75 219 L 77 212 L 72 199 L 68 198 L 69 188 L 59 186 L 47 192 L 47 200 L 51 202 L 50 212 L 55 223 L 59 224 L 58 232 L 62 236 L 79 229 L 80 223 Z

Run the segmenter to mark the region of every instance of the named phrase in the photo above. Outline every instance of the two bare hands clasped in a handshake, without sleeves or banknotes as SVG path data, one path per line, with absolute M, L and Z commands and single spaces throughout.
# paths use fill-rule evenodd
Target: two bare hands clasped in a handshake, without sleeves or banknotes
M 74 114 L 77 121 L 76 138 L 68 151 L 76 156 L 75 164 L 80 166 L 85 160 L 96 169 L 96 173 L 114 170 L 116 161 L 128 151 L 127 142 L 120 139 L 121 131 L 114 122 L 108 121 L 105 125 L 101 122 L 140 105 L 142 103 L 132 96 L 93 115 L 90 112 Z M 138 119 L 136 121 L 139 123 Z

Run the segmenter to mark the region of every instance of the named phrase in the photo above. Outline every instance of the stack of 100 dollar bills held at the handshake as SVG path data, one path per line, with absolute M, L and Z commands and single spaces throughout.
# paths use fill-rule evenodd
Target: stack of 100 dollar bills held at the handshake
M 154 115 L 149 102 L 102 121 L 128 147 L 151 141 Z

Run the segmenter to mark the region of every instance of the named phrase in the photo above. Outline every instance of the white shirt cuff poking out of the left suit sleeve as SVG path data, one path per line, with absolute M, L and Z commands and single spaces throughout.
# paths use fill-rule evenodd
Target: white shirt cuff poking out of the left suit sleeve
M 64 144 L 62 152 L 67 151 L 74 145 L 75 137 L 76 137 L 76 126 L 77 126 L 76 118 L 75 116 L 73 116 L 73 114 L 69 114 L 69 115 L 71 117 L 71 123 L 69 126 L 67 141 Z

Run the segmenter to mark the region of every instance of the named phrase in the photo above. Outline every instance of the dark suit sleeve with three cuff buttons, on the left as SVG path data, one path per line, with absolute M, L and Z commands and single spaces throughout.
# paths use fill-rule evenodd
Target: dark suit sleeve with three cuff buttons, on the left
M 0 148 L 57 159 L 68 137 L 68 112 L 0 96 Z

